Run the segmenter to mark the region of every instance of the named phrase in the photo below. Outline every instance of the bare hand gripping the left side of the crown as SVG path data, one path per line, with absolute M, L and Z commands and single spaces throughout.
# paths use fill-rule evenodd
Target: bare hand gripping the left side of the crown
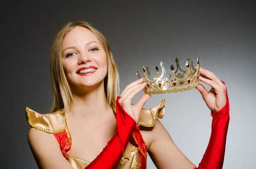
M 140 78 L 135 82 L 126 86 L 122 94 L 120 95 L 119 104 L 122 108 L 127 112 L 136 122 L 139 121 L 140 118 L 140 111 L 144 104 L 148 101 L 151 95 L 143 95 L 140 100 L 135 104 L 132 105 L 132 99 L 135 95 L 137 95 L 140 91 L 142 91 L 147 83 L 143 83 L 144 78 Z

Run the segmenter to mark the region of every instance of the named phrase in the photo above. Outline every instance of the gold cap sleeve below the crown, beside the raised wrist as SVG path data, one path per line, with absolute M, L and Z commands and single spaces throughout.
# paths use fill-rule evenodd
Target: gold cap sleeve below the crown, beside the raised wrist
M 140 119 L 138 124 L 140 124 L 140 126 L 146 126 L 146 127 L 154 126 L 154 124 L 156 123 L 157 117 L 163 118 L 163 115 L 165 113 L 166 102 L 167 100 L 164 99 L 157 106 L 154 106 L 148 109 L 143 108 L 140 112 Z

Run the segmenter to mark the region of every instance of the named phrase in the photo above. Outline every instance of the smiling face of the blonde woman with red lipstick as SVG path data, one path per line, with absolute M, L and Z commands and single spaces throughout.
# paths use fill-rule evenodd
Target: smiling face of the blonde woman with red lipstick
M 71 88 L 103 85 L 108 70 L 107 57 L 89 29 L 77 26 L 67 33 L 62 43 L 62 61 Z

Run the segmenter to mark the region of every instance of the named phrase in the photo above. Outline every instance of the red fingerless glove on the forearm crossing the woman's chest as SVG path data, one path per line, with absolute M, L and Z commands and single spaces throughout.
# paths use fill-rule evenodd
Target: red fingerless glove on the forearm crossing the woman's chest
M 136 122 L 116 99 L 116 134 L 86 169 L 116 169 L 134 132 Z

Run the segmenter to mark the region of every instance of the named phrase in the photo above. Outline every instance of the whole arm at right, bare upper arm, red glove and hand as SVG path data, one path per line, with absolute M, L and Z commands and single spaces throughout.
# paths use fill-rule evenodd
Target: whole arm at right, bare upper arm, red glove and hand
M 210 85 L 212 89 L 208 92 L 201 84 L 196 89 L 211 110 L 213 118 L 209 144 L 198 169 L 222 169 L 230 119 L 227 88 L 225 83 L 222 83 L 212 72 L 200 68 L 200 73 L 200 80 Z M 149 154 L 157 168 L 197 169 L 180 152 L 160 122 L 154 128 L 152 130 L 154 138 L 149 147 Z

